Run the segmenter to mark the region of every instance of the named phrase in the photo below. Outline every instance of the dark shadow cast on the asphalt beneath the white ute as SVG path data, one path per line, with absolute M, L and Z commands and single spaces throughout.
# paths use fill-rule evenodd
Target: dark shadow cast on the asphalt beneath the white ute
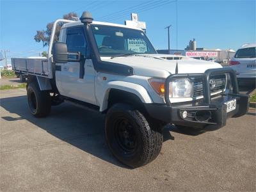
M 90 153 L 104 161 L 129 169 L 111 154 L 104 138 L 104 115 L 63 103 L 52 107 L 47 118 L 31 115 L 26 96 L 1 99 L 1 107 L 19 117 L 2 116 L 6 123 L 26 119 L 52 136 Z M 168 129 L 164 129 L 164 141 L 174 140 Z

